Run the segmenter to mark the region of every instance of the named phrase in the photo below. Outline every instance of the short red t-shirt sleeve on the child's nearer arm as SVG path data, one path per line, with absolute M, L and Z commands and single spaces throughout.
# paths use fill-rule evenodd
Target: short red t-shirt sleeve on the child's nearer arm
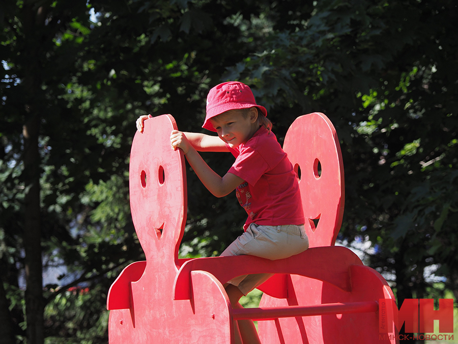
M 240 152 L 240 155 L 236 157 L 235 163 L 227 172 L 235 174 L 249 184 L 254 185 L 269 170 L 269 164 L 261 154 L 249 147 Z

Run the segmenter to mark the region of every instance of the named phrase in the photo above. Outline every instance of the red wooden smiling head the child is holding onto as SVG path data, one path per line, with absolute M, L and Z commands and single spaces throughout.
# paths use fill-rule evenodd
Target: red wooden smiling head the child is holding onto
M 186 222 L 185 163 L 183 152 L 170 146 L 174 129 L 177 125 L 170 115 L 153 117 L 132 142 L 130 207 L 147 260 L 169 255 L 173 261 Z

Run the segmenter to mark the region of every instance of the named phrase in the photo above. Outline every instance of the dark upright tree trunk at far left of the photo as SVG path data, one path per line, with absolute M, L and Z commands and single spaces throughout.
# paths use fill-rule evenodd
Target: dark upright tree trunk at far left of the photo
M 39 2 L 25 2 L 22 8 L 23 32 L 26 44 L 25 56 L 33 57 L 24 68 L 25 124 L 24 138 L 24 267 L 25 267 L 25 319 L 27 323 L 27 344 L 44 343 L 43 265 L 40 219 L 40 154 L 39 134 L 43 98 L 39 71 L 46 60 L 43 44 L 49 36 L 43 32 L 46 10 L 37 6 Z

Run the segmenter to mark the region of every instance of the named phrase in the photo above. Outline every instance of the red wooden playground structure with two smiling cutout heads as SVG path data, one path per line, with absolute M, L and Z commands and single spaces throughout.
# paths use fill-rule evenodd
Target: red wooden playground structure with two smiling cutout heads
M 130 205 L 146 261 L 130 264 L 110 287 L 110 344 L 231 344 L 238 319 L 259 321 L 263 344 L 397 342 L 379 333 L 379 300 L 394 300 L 386 280 L 348 248 L 334 246 L 344 211 L 344 167 L 325 115 L 300 116 L 284 140 L 310 248 L 279 260 L 178 258 L 187 193 L 184 155 L 170 147 L 173 129 L 170 115 L 148 119 L 132 143 Z M 275 274 L 259 287 L 260 307 L 233 309 L 222 284 L 253 273 Z

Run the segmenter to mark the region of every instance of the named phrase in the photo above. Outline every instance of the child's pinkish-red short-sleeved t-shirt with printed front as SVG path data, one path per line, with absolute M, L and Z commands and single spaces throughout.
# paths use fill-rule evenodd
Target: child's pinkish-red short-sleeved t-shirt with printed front
M 236 188 L 237 199 L 250 223 L 300 225 L 305 222 L 296 173 L 277 138 L 262 126 L 237 148 L 226 145 L 236 157 L 228 172 L 245 180 Z

